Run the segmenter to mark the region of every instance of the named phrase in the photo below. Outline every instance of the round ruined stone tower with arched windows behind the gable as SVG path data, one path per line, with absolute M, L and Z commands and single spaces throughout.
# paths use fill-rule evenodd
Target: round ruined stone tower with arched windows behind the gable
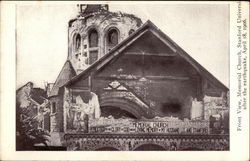
M 142 21 L 132 14 L 110 12 L 108 5 L 78 5 L 69 21 L 68 60 L 77 74 L 137 30 Z

